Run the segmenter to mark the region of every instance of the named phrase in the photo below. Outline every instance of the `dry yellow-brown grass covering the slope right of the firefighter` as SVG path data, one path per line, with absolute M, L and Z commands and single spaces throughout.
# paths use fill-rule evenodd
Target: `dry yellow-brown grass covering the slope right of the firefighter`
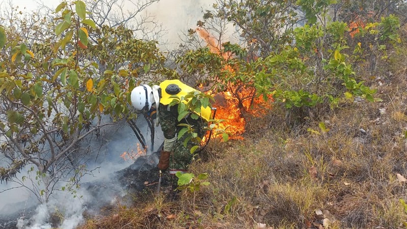
M 211 182 L 196 193 L 195 206 L 187 190 L 176 201 L 152 194 L 80 228 L 318 228 L 317 209 L 332 214 L 329 228 L 402 228 L 407 182 L 396 174 L 407 178 L 405 53 L 389 64 L 385 84 L 372 82 L 383 102 L 341 101 L 295 130 L 276 108 L 248 122 L 245 140 L 213 140 L 191 165 Z

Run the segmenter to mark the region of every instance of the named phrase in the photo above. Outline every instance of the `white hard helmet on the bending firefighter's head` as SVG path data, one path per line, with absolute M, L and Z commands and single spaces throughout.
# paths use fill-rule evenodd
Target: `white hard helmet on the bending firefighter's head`
M 136 108 L 136 113 L 147 113 L 154 102 L 153 90 L 147 84 L 131 91 L 131 105 Z

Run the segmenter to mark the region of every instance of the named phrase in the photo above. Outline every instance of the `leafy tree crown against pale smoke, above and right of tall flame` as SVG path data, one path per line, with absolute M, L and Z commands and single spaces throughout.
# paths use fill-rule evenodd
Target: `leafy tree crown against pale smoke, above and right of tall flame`
M 292 42 L 288 36 L 300 20 L 294 0 L 218 0 L 212 14 L 234 24 L 249 53 L 267 56 Z

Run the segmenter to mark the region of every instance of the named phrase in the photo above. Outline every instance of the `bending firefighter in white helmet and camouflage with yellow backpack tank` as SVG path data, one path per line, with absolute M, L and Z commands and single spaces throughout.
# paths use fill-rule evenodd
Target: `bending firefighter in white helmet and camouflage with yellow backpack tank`
M 196 113 L 199 119 L 194 120 L 190 116 L 186 116 L 178 121 L 178 106 L 169 106 L 169 103 L 173 101 L 170 96 L 177 95 L 181 98 L 193 91 L 197 90 L 180 80 L 164 80 L 160 85 L 153 85 L 153 87 L 147 84 L 140 85 L 131 92 L 131 103 L 136 109 L 136 113 L 149 116 L 156 120 L 157 125 L 161 125 L 164 133 L 164 146 L 160 150 L 157 167 L 161 171 L 169 167 L 169 174 L 171 175 L 175 175 L 177 171 L 181 173 L 187 171 L 193 158 L 190 149 L 196 145 L 196 143 L 188 141 L 187 146 L 184 146 L 187 134 L 178 139 L 178 133 L 184 128 L 179 124 L 193 126 L 194 131 L 202 138 L 205 135 L 204 128 L 211 118 L 211 108 L 208 106 L 206 108 L 201 107 L 201 112 Z

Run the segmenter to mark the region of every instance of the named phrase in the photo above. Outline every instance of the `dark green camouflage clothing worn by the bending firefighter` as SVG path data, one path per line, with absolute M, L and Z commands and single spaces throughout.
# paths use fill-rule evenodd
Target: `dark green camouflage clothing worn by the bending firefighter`
M 178 111 L 177 106 L 164 106 L 160 104 L 159 107 L 159 116 L 160 116 L 160 125 L 161 129 L 164 133 L 164 137 L 167 139 L 171 139 L 183 129 L 183 126 L 178 126 L 179 124 L 188 124 L 192 126 L 194 131 L 198 134 L 200 138 L 205 135 L 205 128 L 208 123 L 205 120 L 197 119 L 194 120 L 190 117 L 182 119 L 180 122 L 178 121 Z M 188 141 L 186 146 L 184 145 L 184 141 L 187 139 L 190 134 L 184 134 L 181 139 L 178 139 L 175 143 L 175 146 L 172 149 L 170 160 L 169 160 L 169 173 L 175 174 L 177 171 L 187 171 L 189 164 L 192 162 L 193 154 L 191 154 L 190 149 L 197 144 Z

